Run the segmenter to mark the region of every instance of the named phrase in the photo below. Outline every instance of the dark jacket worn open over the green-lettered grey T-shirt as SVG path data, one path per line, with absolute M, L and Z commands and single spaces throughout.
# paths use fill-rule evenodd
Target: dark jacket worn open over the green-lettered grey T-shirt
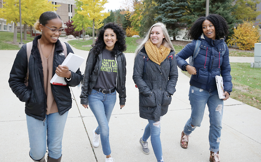
M 117 52 L 116 55 L 118 66 L 118 77 L 116 84 L 116 91 L 119 93 L 119 104 L 125 105 L 126 102 L 126 58 L 122 52 Z M 93 49 L 90 50 L 86 68 L 84 72 L 84 80 L 81 86 L 81 104 L 88 105 L 88 96 L 90 95 L 93 87 L 96 84 L 102 67 L 102 53 L 98 56 L 94 56 Z

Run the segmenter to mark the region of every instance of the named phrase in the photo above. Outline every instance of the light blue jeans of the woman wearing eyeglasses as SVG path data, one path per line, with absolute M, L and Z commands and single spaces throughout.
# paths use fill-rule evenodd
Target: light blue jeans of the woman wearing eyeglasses
M 53 159 L 61 157 L 62 139 L 67 115 L 68 111 L 63 115 L 59 115 L 59 113 L 45 115 L 46 120 L 44 122 L 26 115 L 31 148 L 29 154 L 32 159 L 40 160 L 45 156 L 46 142 L 48 156 Z

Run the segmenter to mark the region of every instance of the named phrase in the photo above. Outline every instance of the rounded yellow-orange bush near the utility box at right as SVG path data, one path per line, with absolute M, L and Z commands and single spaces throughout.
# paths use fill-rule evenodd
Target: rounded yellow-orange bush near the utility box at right
M 242 50 L 251 50 L 255 47 L 255 43 L 260 42 L 260 34 L 258 26 L 254 26 L 252 22 L 243 21 L 237 28 L 234 28 L 234 34 L 229 37 L 228 45 L 235 45 Z

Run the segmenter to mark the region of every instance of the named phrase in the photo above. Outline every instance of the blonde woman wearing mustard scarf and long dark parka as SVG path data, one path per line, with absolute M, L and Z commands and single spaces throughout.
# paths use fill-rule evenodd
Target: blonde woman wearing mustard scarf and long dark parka
M 178 78 L 174 54 L 165 25 L 156 23 L 137 48 L 134 61 L 133 80 L 139 88 L 139 116 L 148 120 L 139 143 L 142 152 L 149 154 L 147 140 L 151 137 L 151 145 L 158 162 L 164 161 L 160 120 L 168 111 Z

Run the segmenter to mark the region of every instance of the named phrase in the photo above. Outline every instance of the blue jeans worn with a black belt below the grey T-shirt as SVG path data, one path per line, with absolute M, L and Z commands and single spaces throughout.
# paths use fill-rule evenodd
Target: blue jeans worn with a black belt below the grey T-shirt
M 109 121 L 116 102 L 116 91 L 104 94 L 93 89 L 88 100 L 89 107 L 98 122 L 98 127 L 95 132 L 101 137 L 102 151 L 105 155 L 109 155 L 111 153 Z

